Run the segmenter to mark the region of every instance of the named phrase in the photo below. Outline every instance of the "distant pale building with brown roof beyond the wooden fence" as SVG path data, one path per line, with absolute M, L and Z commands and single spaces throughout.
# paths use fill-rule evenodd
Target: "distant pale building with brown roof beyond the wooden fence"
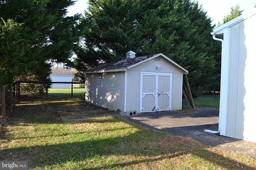
M 73 70 L 52 69 L 50 74 L 52 82 L 72 82 Z M 70 84 L 53 83 L 51 88 L 71 88 Z

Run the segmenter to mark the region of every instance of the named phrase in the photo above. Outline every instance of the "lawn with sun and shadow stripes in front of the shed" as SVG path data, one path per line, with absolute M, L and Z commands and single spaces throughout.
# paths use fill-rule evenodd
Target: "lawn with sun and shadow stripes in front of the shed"
M 22 98 L 0 138 L 0 160 L 31 170 L 254 169 L 256 159 L 134 125 L 77 97 Z

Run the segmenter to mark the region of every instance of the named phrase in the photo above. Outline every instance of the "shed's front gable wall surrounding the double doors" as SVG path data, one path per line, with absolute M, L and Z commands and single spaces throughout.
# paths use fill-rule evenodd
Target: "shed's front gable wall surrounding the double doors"
M 140 72 L 172 73 L 171 110 L 182 109 L 182 77 L 184 72 L 163 57 L 151 59 L 127 70 L 126 111 L 140 111 Z M 159 70 L 156 66 L 162 66 Z M 152 83 L 152 82 L 148 82 Z

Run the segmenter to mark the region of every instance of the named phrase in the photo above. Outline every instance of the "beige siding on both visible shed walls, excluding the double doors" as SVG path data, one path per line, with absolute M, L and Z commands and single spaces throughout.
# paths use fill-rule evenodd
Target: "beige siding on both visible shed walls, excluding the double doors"
M 156 66 L 162 66 L 159 70 Z M 137 66 L 120 72 L 86 74 L 86 102 L 110 110 L 120 109 L 140 113 L 140 73 L 170 73 L 172 74 L 172 103 L 170 110 L 182 109 L 182 75 L 180 68 L 170 63 L 164 57 L 151 59 Z M 125 86 L 126 82 L 126 86 Z M 145 83 L 155 83 L 151 80 Z M 126 99 L 126 100 L 125 100 Z M 125 103 L 126 101 L 126 103 Z

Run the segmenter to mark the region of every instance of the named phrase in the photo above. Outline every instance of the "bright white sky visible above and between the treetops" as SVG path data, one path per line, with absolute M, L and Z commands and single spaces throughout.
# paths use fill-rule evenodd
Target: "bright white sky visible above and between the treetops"
M 84 13 L 88 6 L 87 2 L 88 0 L 77 0 L 74 6 L 68 8 L 68 16 Z M 236 5 L 239 5 L 240 10 L 244 12 L 253 9 L 256 5 L 256 0 L 198 0 L 198 2 L 212 19 L 212 25 L 215 23 L 218 25 L 218 21 L 222 22 L 224 16 L 230 14 L 231 8 Z

